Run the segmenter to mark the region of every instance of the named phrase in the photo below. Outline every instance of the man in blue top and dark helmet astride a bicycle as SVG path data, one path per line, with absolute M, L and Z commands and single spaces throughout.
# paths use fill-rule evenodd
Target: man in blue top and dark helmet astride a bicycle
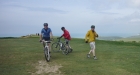
M 53 38 L 52 30 L 48 27 L 48 23 L 44 23 L 43 25 L 44 28 L 41 30 L 40 41 L 50 41 L 50 39 Z M 43 46 L 45 47 L 44 43 Z M 48 44 L 48 46 L 51 49 L 50 44 Z

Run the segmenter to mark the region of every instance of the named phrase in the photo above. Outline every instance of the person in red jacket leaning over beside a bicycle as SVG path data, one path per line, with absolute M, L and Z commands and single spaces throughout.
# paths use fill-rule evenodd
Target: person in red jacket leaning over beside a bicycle
M 71 46 L 69 45 L 69 42 L 70 42 L 70 40 L 71 40 L 71 36 L 70 36 L 69 31 L 68 31 L 68 30 L 66 30 L 66 29 L 65 29 L 65 27 L 61 27 L 61 30 L 62 30 L 64 33 L 63 33 L 63 34 L 62 34 L 62 36 L 61 36 L 61 37 L 59 37 L 59 38 L 64 37 L 64 38 L 65 38 L 65 40 L 66 40 L 66 44 L 68 44 L 69 48 L 70 48 L 70 49 L 71 49 L 71 51 L 72 51 L 73 49 L 72 49 L 72 48 L 71 48 Z

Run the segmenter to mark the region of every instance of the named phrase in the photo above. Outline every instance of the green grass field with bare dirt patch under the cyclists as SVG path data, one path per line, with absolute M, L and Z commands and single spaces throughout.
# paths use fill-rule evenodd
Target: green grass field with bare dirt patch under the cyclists
M 89 44 L 72 39 L 73 52 L 52 52 L 46 62 L 39 38 L 0 39 L 0 75 L 140 75 L 140 43 L 96 41 L 98 60 L 87 58 Z

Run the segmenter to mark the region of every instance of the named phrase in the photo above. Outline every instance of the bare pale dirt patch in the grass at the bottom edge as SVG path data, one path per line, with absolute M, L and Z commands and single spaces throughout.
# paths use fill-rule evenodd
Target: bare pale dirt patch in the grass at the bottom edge
M 61 65 L 57 65 L 54 63 L 49 62 L 49 64 L 46 61 L 38 61 L 37 66 L 35 67 L 37 71 L 35 73 L 32 73 L 32 75 L 63 75 L 59 68 L 61 68 Z

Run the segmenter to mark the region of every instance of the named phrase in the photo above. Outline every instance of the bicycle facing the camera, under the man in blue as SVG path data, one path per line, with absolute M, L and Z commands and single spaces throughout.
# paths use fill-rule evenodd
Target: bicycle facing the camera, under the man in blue
M 48 44 L 51 43 L 52 40 L 50 41 L 45 41 L 45 40 L 42 40 L 41 43 L 44 43 L 45 44 L 45 47 L 44 47 L 44 55 L 45 55 L 45 59 L 47 62 L 50 61 L 50 58 L 51 58 L 51 54 L 50 54 L 50 49 L 49 49 L 49 46 Z

